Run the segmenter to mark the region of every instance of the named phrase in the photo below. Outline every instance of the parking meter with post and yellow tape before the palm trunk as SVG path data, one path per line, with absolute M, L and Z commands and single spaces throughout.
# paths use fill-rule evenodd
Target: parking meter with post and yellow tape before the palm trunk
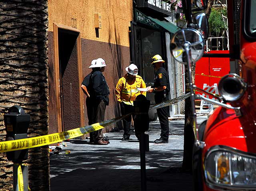
M 25 114 L 20 106 L 12 106 L 8 114 L 4 114 L 6 141 L 28 138 L 29 123 L 30 115 Z M 6 152 L 6 156 L 8 160 L 13 161 L 13 190 L 28 191 L 28 167 L 22 165 L 22 161 L 28 158 L 28 149 Z

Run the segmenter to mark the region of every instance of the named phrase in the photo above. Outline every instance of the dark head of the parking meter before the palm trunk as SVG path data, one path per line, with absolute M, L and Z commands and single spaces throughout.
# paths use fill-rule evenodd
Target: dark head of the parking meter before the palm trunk
M 29 123 L 30 115 L 26 114 L 21 106 L 12 106 L 8 114 L 4 114 L 6 141 L 28 138 Z M 16 147 L 24 144 L 24 142 L 18 143 Z M 19 162 L 28 158 L 28 149 L 6 152 L 6 156 L 8 160 Z

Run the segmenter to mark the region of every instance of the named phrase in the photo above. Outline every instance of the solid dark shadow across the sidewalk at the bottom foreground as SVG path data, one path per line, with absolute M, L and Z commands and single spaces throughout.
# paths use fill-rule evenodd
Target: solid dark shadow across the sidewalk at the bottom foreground
M 67 181 L 68 177 L 70 179 Z M 72 178 L 71 178 L 72 177 Z M 147 191 L 189 191 L 191 175 L 147 170 Z M 140 191 L 140 169 L 74 169 L 51 178 L 52 191 Z

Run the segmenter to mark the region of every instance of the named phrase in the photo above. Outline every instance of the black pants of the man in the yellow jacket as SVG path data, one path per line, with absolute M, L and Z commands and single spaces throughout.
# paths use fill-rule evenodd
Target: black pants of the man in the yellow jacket
M 121 114 L 126 115 L 128 113 L 134 112 L 134 107 L 132 105 L 125 104 L 124 102 L 120 103 L 120 108 L 121 108 Z M 134 114 L 124 118 L 123 121 L 123 126 L 124 126 L 124 137 L 130 137 L 131 134 L 129 134 L 130 131 L 130 126 L 132 119 L 134 119 Z M 137 133 L 135 132 L 136 137 L 138 137 Z

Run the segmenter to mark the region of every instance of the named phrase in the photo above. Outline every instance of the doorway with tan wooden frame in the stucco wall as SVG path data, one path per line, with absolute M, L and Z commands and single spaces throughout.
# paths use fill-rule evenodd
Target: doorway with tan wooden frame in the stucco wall
M 84 124 L 80 32 L 67 26 L 54 27 L 58 132 Z

